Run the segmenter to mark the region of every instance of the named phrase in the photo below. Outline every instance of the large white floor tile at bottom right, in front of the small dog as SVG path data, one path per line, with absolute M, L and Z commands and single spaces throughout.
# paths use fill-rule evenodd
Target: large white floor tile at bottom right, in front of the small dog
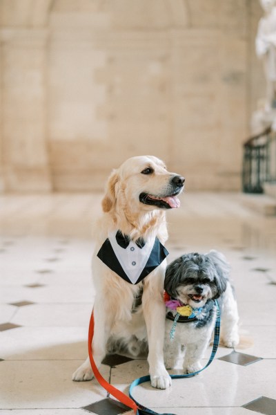
M 151 408 L 179 407 L 180 402 L 184 407 L 237 407 L 259 396 L 275 399 L 275 370 L 275 360 L 261 360 L 246 367 L 215 360 L 198 376 L 173 379 L 172 387 L 165 391 L 153 389 L 146 382 L 135 387 L 132 395 Z M 111 381 L 124 389 L 134 378 L 145 374 L 146 362 L 128 362 L 112 369 Z

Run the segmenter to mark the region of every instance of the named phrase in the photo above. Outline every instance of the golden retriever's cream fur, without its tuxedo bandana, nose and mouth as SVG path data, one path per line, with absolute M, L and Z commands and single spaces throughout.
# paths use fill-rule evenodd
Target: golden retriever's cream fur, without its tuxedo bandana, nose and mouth
M 141 174 L 147 168 L 152 169 L 152 173 Z M 160 389 L 166 389 L 171 384 L 163 357 L 163 288 L 166 260 L 143 282 L 132 285 L 103 264 L 97 258 L 97 252 L 108 237 L 108 232 L 116 229 L 128 234 L 134 241 L 139 237 L 145 240 L 158 237 L 164 244 L 168 238 L 165 210 L 141 203 L 139 194 L 148 192 L 155 196 L 164 195 L 166 199 L 174 177 L 181 178 L 168 172 L 164 163 L 154 156 L 133 157 L 115 169 L 108 178 L 106 194 L 103 197 L 103 215 L 97 223 L 97 246 L 92 259 L 92 275 L 96 288 L 95 336 L 92 349 L 97 366 L 99 367 L 106 354 L 106 344 L 110 338 L 123 338 L 130 351 L 133 339 L 138 342 L 148 341 L 151 383 L 153 387 Z M 184 182 L 184 178 L 181 179 Z M 132 313 L 133 301 L 139 295 L 141 287 L 142 306 L 136 313 Z M 75 371 L 73 380 L 90 380 L 92 376 L 87 359 Z

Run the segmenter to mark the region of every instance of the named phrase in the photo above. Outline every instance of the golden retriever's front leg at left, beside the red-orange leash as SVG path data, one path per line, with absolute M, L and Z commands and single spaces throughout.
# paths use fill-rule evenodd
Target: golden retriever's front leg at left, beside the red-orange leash
M 110 334 L 112 321 L 108 321 L 106 309 L 95 302 L 94 305 L 94 337 L 92 340 L 92 353 L 96 366 L 99 368 L 101 360 L 106 356 L 106 342 Z M 94 374 L 91 369 L 89 357 L 74 372 L 72 380 L 81 382 L 83 380 L 91 380 Z

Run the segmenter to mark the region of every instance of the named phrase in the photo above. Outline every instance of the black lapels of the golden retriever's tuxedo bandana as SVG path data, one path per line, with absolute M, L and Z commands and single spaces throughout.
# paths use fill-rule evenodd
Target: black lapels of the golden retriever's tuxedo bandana
M 157 268 L 157 266 L 159 266 L 161 262 L 164 261 L 167 255 L 168 251 L 166 250 L 166 248 L 160 243 L 159 239 L 155 238 L 155 243 L 150 252 L 150 256 L 148 257 L 146 266 L 144 267 L 144 270 L 142 270 L 135 284 L 141 282 L 142 279 L 144 279 L 148 274 L 155 270 L 155 268 Z M 99 257 L 99 259 L 103 261 L 103 264 L 106 264 L 108 268 L 110 268 L 117 275 L 119 275 L 119 277 L 124 279 L 126 282 L 132 284 L 132 282 L 128 278 L 128 275 L 126 275 L 124 269 L 121 267 L 121 264 L 118 261 L 117 256 L 115 255 L 115 252 L 111 246 L 109 239 L 106 239 L 106 241 L 103 242 L 103 245 L 97 253 L 97 257 Z

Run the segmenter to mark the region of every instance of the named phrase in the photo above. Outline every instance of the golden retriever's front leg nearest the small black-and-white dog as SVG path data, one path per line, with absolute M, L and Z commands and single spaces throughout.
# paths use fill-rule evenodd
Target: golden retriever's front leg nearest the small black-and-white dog
M 146 288 L 146 287 L 145 287 Z M 172 384 L 164 365 L 164 332 L 166 308 L 161 293 L 144 289 L 143 311 L 148 333 L 148 365 L 152 387 L 166 389 Z

